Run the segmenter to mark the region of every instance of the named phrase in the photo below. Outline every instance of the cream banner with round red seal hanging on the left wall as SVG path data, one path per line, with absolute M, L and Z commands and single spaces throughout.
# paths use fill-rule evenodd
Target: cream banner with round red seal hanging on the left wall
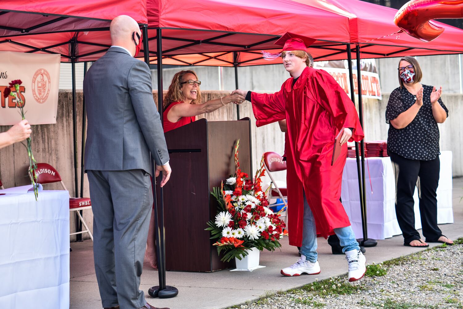
M 31 125 L 56 123 L 60 55 L 0 51 L 0 126 L 21 121 L 20 104 L 13 96 L 4 97 L 9 82 L 21 80 L 19 95 L 25 118 Z

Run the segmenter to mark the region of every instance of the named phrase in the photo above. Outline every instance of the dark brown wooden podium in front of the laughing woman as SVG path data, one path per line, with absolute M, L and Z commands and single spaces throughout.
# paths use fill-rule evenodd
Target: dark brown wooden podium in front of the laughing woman
M 200 119 L 165 133 L 172 174 L 164 186 L 166 269 L 217 271 L 223 263 L 204 229 L 213 220 L 217 203 L 213 187 L 235 173 L 234 146 L 239 139 L 239 163 L 251 175 L 250 119 Z M 158 195 L 159 196 L 159 195 Z M 160 203 L 158 203 L 159 205 Z

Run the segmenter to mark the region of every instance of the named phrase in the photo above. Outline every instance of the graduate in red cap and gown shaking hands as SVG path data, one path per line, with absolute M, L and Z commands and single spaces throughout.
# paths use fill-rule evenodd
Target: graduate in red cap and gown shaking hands
M 349 281 L 355 281 L 365 273 L 365 257 L 339 198 L 346 142 L 363 139 L 363 130 L 354 103 L 334 78 L 308 66 L 307 47 L 314 41 L 288 32 L 275 43 L 283 46 L 282 62 L 291 75 L 280 91 L 235 92 L 251 101 L 257 126 L 284 119 L 287 122 L 289 243 L 301 246 L 302 255 L 281 273 L 319 273 L 316 236 L 326 238 L 336 233 L 349 263 Z M 342 150 L 331 165 L 338 133 L 342 135 Z

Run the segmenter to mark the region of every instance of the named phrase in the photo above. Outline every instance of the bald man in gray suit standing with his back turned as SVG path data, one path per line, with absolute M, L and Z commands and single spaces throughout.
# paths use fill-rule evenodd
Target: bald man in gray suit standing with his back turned
M 161 186 L 170 177 L 169 153 L 150 69 L 134 58 L 140 28 L 121 15 L 110 32 L 113 46 L 84 79 L 95 272 L 103 308 L 156 309 L 139 285 L 153 205 L 150 153 L 156 176 L 163 173 Z

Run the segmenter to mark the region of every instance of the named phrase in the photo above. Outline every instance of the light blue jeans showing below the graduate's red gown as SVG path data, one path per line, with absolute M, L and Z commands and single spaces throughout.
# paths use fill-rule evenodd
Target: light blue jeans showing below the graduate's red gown
M 304 219 L 302 224 L 302 246 L 300 253 L 312 263 L 317 261 L 317 229 L 315 227 L 315 220 L 313 218 L 312 210 L 307 202 L 306 193 L 304 192 Z M 352 227 L 338 227 L 334 229 L 334 233 L 338 235 L 339 244 L 343 246 L 343 252 L 350 250 L 360 250 L 358 242 L 355 239 Z

